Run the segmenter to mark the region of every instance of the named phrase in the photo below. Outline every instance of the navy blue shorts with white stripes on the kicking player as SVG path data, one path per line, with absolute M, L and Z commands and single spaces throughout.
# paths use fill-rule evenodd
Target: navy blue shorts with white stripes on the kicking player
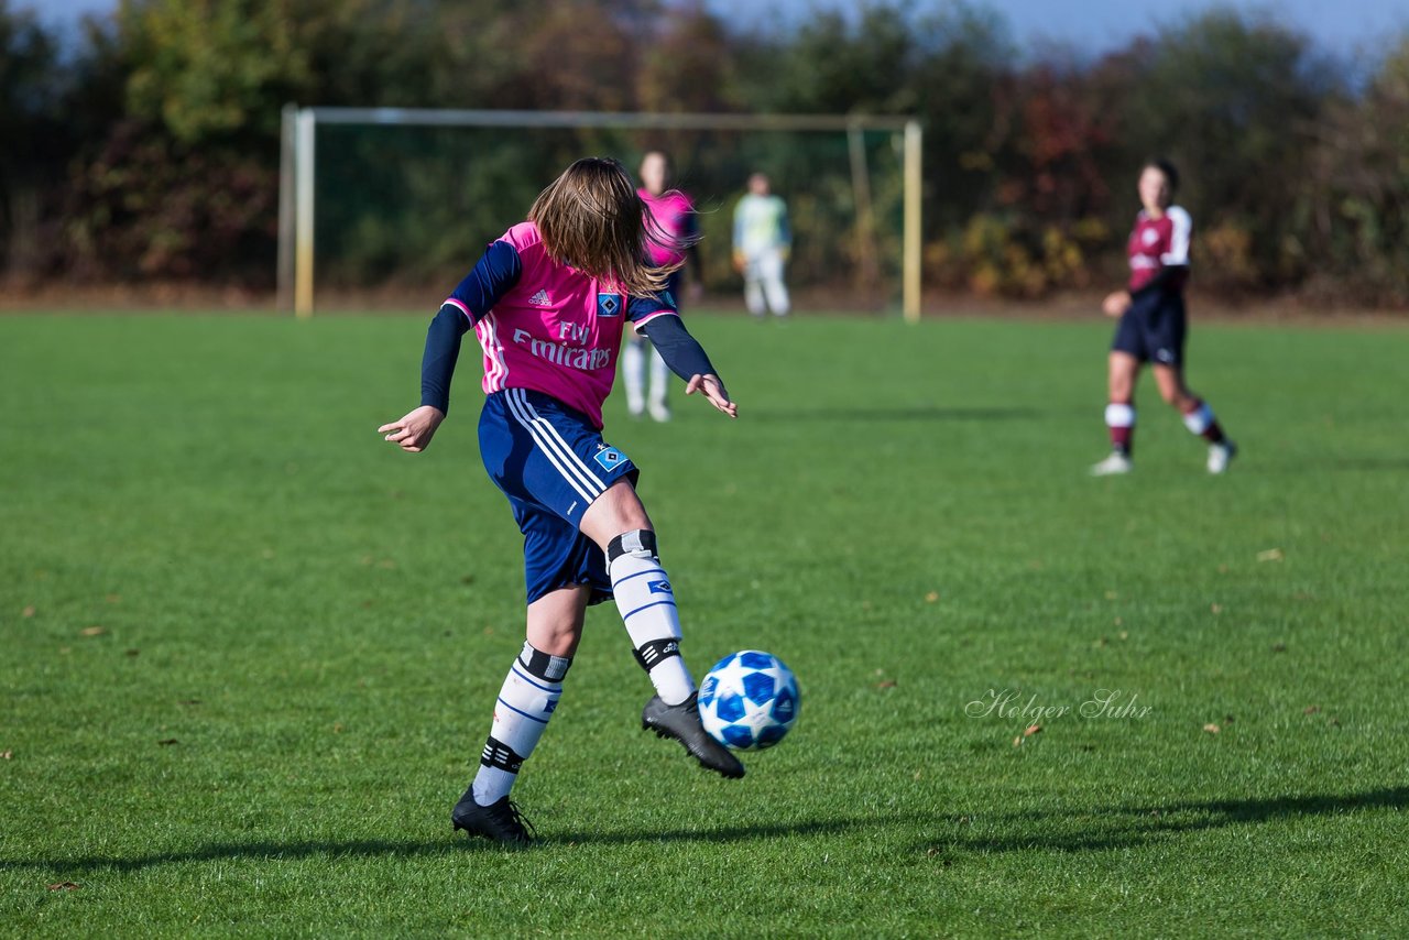
M 578 526 L 607 486 L 621 476 L 635 483 L 631 459 L 609 447 L 586 414 L 526 389 L 485 399 L 479 455 L 524 534 L 528 603 L 568 585 L 592 585 L 590 603 L 609 600 L 606 555 Z

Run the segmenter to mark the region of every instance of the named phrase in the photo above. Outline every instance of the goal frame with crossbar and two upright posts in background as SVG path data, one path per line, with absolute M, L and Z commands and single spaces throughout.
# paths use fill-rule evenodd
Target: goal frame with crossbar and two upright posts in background
M 844 135 L 850 162 L 857 231 L 862 235 L 858 264 L 875 265 L 872 193 L 865 132 L 896 137 L 900 159 L 900 309 L 907 321 L 920 319 L 920 190 L 923 130 L 913 117 L 874 114 L 689 114 L 638 111 L 520 111 L 395 107 L 286 107 L 282 120 L 279 193 L 279 303 L 297 317 L 314 310 L 314 193 L 318 128 L 334 125 L 402 128 L 503 128 L 519 131 L 704 131 Z M 741 183 L 743 180 L 740 180 Z

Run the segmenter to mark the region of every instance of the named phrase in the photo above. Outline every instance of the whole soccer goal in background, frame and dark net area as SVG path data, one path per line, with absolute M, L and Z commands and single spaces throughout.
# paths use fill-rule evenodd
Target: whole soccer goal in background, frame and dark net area
M 651 149 L 699 213 L 704 282 L 738 296 L 733 211 L 764 172 L 788 204 L 789 286 L 819 309 L 919 316 L 920 130 L 867 116 L 287 109 L 282 303 L 454 285 L 573 159 Z

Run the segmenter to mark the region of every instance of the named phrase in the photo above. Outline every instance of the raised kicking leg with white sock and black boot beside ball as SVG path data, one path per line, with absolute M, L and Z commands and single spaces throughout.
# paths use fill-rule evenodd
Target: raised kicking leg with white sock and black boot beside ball
M 641 726 L 674 737 L 703 767 L 743 777 L 744 765 L 700 724 L 699 692 L 681 655 L 681 620 L 655 530 L 627 478 L 619 478 L 582 516 L 582 534 L 602 547 L 617 610 L 637 662 L 655 686 Z

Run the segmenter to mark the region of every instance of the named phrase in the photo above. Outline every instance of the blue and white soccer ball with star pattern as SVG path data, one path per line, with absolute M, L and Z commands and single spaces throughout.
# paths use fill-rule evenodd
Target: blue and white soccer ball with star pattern
M 799 705 L 792 669 L 758 650 L 724 657 L 700 684 L 704 730 L 738 751 L 761 751 L 783 740 L 797 720 Z

